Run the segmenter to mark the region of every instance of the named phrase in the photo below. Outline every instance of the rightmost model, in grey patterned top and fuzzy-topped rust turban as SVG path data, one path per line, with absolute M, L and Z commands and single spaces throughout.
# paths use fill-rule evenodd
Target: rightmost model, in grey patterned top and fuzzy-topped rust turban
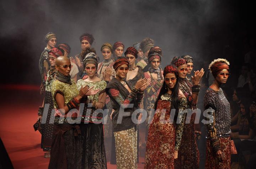
M 229 169 L 231 160 L 230 144 L 230 104 L 220 86 L 230 75 L 229 62 L 215 59 L 210 63 L 214 81 L 204 95 L 204 109 L 213 119 L 207 126 L 206 169 Z M 208 117 L 209 117 L 208 116 Z M 206 118 L 209 121 L 209 118 Z

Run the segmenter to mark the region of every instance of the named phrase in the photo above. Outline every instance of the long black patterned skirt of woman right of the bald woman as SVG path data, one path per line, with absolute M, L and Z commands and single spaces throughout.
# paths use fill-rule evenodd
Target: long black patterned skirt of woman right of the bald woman
M 82 168 L 106 169 L 107 160 L 103 138 L 103 124 L 80 124 L 82 135 Z

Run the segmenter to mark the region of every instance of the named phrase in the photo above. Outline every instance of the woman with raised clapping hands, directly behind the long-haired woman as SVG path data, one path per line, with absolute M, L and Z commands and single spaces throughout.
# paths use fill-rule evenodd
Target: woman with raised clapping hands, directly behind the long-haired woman
M 192 76 L 193 86 L 190 87 L 187 83 L 187 61 L 183 58 L 174 57 L 172 64 L 177 66 L 179 75 L 179 86 L 182 93 L 187 98 L 187 108 L 193 110 L 197 105 L 197 97 L 200 90 L 199 82 L 204 74 L 203 69 L 201 71 L 195 71 Z M 190 123 L 184 125 L 183 135 L 181 139 L 181 145 L 178 150 L 178 158 L 175 160 L 175 168 L 199 168 L 199 151 L 197 148 L 197 142 L 195 134 L 195 119 L 196 113 L 193 113 L 190 117 Z

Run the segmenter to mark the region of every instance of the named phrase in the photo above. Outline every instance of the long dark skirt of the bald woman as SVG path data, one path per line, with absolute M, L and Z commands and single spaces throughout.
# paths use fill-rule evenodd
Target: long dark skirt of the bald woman
M 80 169 L 81 132 L 78 125 L 54 124 L 48 169 Z

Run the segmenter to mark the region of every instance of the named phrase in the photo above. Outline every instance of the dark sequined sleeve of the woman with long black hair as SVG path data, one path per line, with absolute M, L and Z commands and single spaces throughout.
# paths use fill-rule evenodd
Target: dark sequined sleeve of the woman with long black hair
M 180 98 L 178 108 L 179 108 L 179 111 L 187 109 L 187 99 L 185 97 Z M 181 138 L 183 134 L 186 115 L 187 113 L 185 112 L 182 114 L 182 116 L 178 117 L 178 119 L 180 119 L 180 124 L 176 125 L 175 148 L 174 148 L 175 150 L 178 150 L 181 145 Z

